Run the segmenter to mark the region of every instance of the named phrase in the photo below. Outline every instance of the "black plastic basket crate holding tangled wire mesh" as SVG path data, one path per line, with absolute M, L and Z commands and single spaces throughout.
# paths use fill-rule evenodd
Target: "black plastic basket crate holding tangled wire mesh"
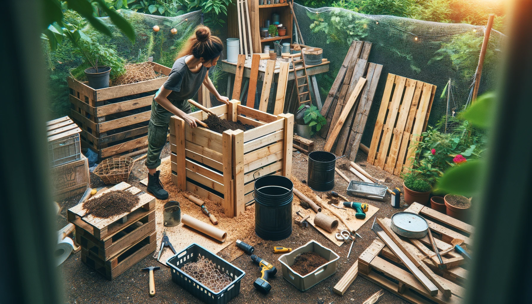
M 218 267 L 220 272 L 225 272 L 232 278 L 232 282 L 220 292 L 213 292 L 194 278 L 181 271 L 181 268 L 188 262 L 197 261 L 199 256 L 211 260 Z M 209 304 L 225 304 L 240 292 L 240 281 L 246 274 L 242 269 L 235 267 L 230 262 L 220 258 L 216 254 L 193 243 L 185 250 L 178 252 L 175 256 L 168 258 L 167 265 L 172 269 L 172 281 L 179 284 L 186 291 L 192 293 L 194 297 Z

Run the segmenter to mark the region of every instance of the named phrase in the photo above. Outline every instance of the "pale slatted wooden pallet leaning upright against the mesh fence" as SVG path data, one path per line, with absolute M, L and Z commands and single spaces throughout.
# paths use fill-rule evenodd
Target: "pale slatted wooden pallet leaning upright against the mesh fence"
M 394 175 L 412 167 L 412 158 L 427 127 L 436 86 L 388 74 L 373 129 L 368 162 Z

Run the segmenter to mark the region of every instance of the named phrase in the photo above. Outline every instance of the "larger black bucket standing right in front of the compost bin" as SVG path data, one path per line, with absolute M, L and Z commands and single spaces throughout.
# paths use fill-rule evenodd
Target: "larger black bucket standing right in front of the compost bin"
M 261 239 L 280 241 L 292 234 L 293 188 L 292 180 L 284 176 L 255 180 L 255 233 Z

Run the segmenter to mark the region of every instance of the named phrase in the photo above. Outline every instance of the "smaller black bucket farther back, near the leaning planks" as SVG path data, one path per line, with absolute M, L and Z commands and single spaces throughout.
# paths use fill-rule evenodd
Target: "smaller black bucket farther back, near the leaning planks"
M 306 184 L 314 191 L 331 191 L 334 188 L 336 155 L 327 151 L 309 153 L 309 172 Z

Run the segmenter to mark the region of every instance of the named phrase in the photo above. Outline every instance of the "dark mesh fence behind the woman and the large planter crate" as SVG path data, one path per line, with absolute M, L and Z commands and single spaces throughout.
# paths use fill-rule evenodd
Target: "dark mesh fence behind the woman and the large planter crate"
M 188 37 L 194 34 L 194 29 L 201 24 L 203 17 L 205 17 L 204 24 L 211 28 L 213 35 L 219 36 L 222 41 L 227 38 L 227 27 L 224 26 L 227 24 L 225 15 L 217 16 L 217 19 L 208 18 L 207 15 L 202 16 L 201 11 L 190 12 L 177 17 L 163 17 L 132 11 L 122 11 L 122 15 L 135 29 L 135 43 L 131 43 L 110 22 L 108 17 L 103 17 L 101 20 L 111 28 L 113 37 L 97 32 L 94 32 L 92 36 L 96 38 L 98 43 L 116 50 L 118 55 L 127 62 L 138 63 L 152 60 L 171 68 L 181 47 L 184 46 Z M 220 20 L 222 21 L 220 22 Z M 159 26 L 160 30 L 155 32 L 154 26 Z M 171 34 L 172 28 L 177 29 L 177 34 Z M 47 55 L 47 68 L 50 77 L 48 86 L 49 119 L 69 115 L 70 102 L 66 78 L 69 76 L 70 70 L 82 63 L 82 58 L 76 55 L 68 39 L 64 39 L 56 51 L 49 50 L 47 42 L 43 43 L 43 48 Z M 225 57 L 224 51 L 222 59 Z M 210 69 L 209 76 L 220 94 L 225 95 L 227 73 L 219 67 L 214 67 Z M 213 105 L 219 104 L 212 95 L 211 100 Z

